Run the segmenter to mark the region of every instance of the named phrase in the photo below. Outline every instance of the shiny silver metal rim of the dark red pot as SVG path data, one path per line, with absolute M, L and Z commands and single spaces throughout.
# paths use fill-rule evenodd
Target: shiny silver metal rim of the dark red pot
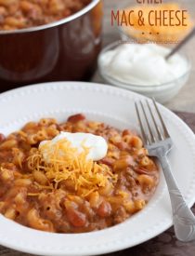
M 22 34 L 22 33 L 32 33 L 32 32 L 37 32 L 37 31 L 42 31 L 45 29 L 49 29 L 49 28 L 53 28 L 53 27 L 57 27 L 58 25 L 62 25 L 65 23 L 70 22 L 71 20 L 76 20 L 78 18 L 80 18 L 81 16 L 83 16 L 85 13 L 87 13 L 88 11 L 90 11 L 91 9 L 93 9 L 94 7 L 97 6 L 97 4 L 100 2 L 101 0 L 92 0 L 92 2 L 90 4 L 88 4 L 86 7 L 84 7 L 83 9 L 81 9 L 80 11 L 72 14 L 71 16 L 58 20 L 58 21 L 54 21 L 45 25 L 41 25 L 41 26 L 36 26 L 36 27 L 31 27 L 31 28 L 25 28 L 25 29 L 19 29 L 19 30 L 14 30 L 14 31 L 0 31 L 0 35 L 1 34 Z

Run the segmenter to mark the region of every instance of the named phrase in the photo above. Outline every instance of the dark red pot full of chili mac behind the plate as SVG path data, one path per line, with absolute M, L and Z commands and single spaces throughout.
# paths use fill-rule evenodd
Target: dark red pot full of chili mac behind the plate
M 89 79 L 101 25 L 100 0 L 0 0 L 0 90 Z

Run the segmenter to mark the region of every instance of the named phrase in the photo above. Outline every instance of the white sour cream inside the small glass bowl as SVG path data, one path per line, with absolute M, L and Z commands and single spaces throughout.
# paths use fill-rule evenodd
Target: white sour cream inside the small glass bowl
M 169 52 L 155 44 L 123 44 L 104 52 L 99 64 L 104 74 L 122 83 L 158 86 L 172 82 L 188 69 L 187 61 L 179 54 L 166 61 Z

